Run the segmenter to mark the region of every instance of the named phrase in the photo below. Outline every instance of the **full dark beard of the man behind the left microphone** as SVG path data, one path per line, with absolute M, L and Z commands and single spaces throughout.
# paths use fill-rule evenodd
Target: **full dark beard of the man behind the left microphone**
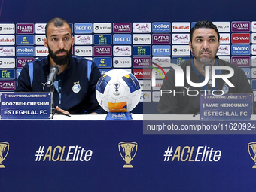
M 63 66 L 69 63 L 70 57 L 72 56 L 72 47 L 70 47 L 69 51 L 68 50 L 57 50 L 55 53 L 53 53 L 53 50 L 48 47 L 49 55 L 53 59 L 53 61 L 59 65 Z M 58 53 L 60 52 L 65 52 L 66 55 L 64 56 L 57 56 Z

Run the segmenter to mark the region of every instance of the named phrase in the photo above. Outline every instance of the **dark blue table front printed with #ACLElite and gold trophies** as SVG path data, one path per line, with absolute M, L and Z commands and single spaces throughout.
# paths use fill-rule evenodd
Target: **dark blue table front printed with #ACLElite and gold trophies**
M 254 190 L 255 134 L 146 135 L 142 121 L 1 123 L 1 191 Z

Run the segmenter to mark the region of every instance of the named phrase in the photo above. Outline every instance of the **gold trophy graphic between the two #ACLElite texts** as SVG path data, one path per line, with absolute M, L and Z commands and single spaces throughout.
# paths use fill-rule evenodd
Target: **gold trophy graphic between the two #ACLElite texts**
M 123 148 L 123 153 L 121 152 L 120 148 Z M 136 148 L 133 153 L 133 148 Z M 138 144 L 136 142 L 120 142 L 118 144 L 118 149 L 120 152 L 121 157 L 123 157 L 123 160 L 126 162 L 123 165 L 123 168 L 133 168 L 132 164 L 130 163 L 133 158 L 136 156 L 137 153 Z M 133 153 L 133 157 L 132 157 Z

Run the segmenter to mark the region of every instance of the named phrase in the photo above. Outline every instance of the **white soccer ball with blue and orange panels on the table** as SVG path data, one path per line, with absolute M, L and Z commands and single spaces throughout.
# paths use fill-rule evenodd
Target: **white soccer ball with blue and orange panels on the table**
M 123 69 L 106 72 L 96 84 L 96 99 L 108 112 L 132 111 L 140 97 L 139 81 L 133 74 Z

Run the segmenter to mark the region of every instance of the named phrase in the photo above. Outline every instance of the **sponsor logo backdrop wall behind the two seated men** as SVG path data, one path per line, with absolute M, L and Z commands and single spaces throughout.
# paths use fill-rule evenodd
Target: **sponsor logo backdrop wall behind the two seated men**
M 53 17 L 69 21 L 75 38 L 75 55 L 92 59 L 102 75 L 111 69 L 130 69 L 140 82 L 151 79 L 153 64 L 147 66 L 147 61 L 136 60 L 146 57 L 148 62 L 163 68 L 167 62 L 180 65 L 192 57 L 188 46 L 190 29 L 198 20 L 210 20 L 221 33 L 218 56 L 241 67 L 250 83 L 256 78 L 253 68 L 256 66 L 256 20 L 248 14 L 253 12 L 253 1 L 236 2 L 232 6 L 202 1 L 205 10 L 189 1 L 181 5 L 163 0 L 74 1 L 69 11 L 60 11 L 67 9 L 66 3 L 70 4 L 66 0 L 61 5 L 55 5 L 56 1 L 26 2 L 29 8 L 23 2 L 0 1 L 0 69 L 4 70 L 0 78 L 6 80 L 0 83 L 2 92 L 14 90 L 20 69 L 27 61 L 47 56 L 48 50 L 43 44 L 45 24 Z M 85 13 L 78 14 L 79 10 L 84 12 L 84 8 Z M 24 9 L 29 10 L 29 14 L 23 14 Z M 232 14 L 237 10 L 242 14 Z M 142 71 L 143 68 L 148 70 Z M 8 75 L 10 71 L 6 69 L 15 70 L 15 77 Z M 157 76 L 157 87 L 146 92 L 141 83 L 142 97 L 134 113 L 156 113 L 163 77 Z M 151 109 L 143 111 L 143 102 L 151 102 Z

